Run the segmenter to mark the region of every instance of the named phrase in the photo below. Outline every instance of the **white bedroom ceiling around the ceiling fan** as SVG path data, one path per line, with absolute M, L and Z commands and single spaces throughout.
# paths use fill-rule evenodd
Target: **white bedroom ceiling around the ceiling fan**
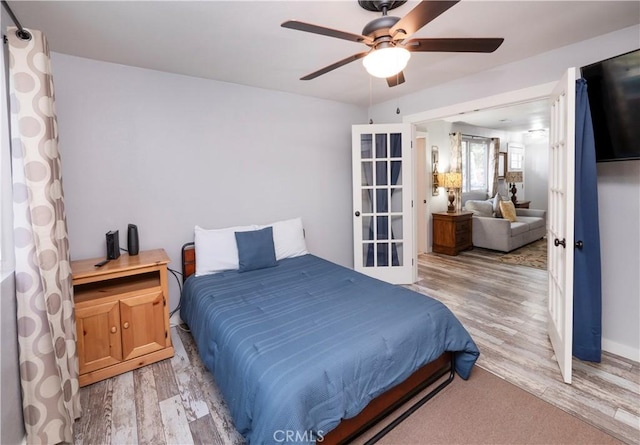
M 390 12 L 404 16 L 409 1 Z M 640 2 L 463 0 L 413 37 L 504 37 L 492 54 L 414 53 L 389 88 L 360 61 L 303 75 L 363 44 L 280 24 L 298 19 L 359 34 L 379 14 L 340 1 L 9 1 L 52 51 L 368 106 L 640 23 Z

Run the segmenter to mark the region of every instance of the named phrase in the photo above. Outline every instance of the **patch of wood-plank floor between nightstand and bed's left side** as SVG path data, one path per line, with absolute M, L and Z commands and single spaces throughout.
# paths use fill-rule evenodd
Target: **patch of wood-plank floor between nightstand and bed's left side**
M 171 359 L 80 388 L 75 444 L 244 443 L 191 334 L 171 338 Z

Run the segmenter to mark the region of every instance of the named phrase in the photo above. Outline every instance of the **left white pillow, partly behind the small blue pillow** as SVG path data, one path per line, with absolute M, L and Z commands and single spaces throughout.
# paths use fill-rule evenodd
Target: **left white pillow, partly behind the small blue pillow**
M 237 270 L 240 267 L 240 260 L 235 233 L 248 232 L 256 228 L 257 226 L 252 225 L 207 230 L 196 226 L 194 230 L 196 277 L 224 270 Z

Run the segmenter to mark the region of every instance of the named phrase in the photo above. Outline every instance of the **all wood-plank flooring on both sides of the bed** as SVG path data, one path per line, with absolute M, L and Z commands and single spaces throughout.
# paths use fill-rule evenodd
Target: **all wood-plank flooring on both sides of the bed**
M 604 354 L 574 359 L 562 383 L 546 335 L 546 272 L 496 261 L 474 249 L 419 258 L 409 286 L 444 302 L 480 348 L 478 365 L 609 434 L 640 443 L 640 364 Z M 176 355 L 80 389 L 77 444 L 224 444 L 243 442 L 189 333 L 172 329 Z

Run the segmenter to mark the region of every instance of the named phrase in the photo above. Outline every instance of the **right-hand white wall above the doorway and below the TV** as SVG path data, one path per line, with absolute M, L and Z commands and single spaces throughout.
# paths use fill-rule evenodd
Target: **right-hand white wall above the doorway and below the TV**
M 625 28 L 378 104 L 372 107 L 370 115 L 378 123 L 402 122 L 404 115 L 436 110 L 557 81 L 568 67 L 585 66 L 638 49 L 639 35 L 640 26 Z M 398 103 L 402 103 L 400 115 L 395 113 Z M 630 190 L 633 191 L 630 196 L 637 196 L 640 190 L 640 175 L 637 174 L 636 168 L 625 164 L 625 167 L 616 170 L 615 175 L 604 177 L 603 172 L 607 170 L 607 167 L 599 166 L 598 168 L 598 187 L 604 187 L 607 190 L 607 199 L 611 196 L 629 196 Z M 600 200 L 600 203 L 602 205 L 603 201 Z M 607 308 L 603 310 L 602 338 L 605 350 L 639 361 L 640 311 L 637 307 L 640 305 L 640 291 L 637 286 L 629 286 L 628 283 L 638 276 L 640 246 L 637 238 L 635 243 L 627 244 L 632 246 L 629 250 L 619 249 L 620 243 L 611 241 L 621 237 L 621 234 L 624 234 L 628 241 L 634 241 L 634 237 L 631 236 L 629 239 L 628 234 L 633 233 L 635 236 L 638 234 L 640 213 L 638 199 L 631 202 L 625 200 L 622 206 L 626 207 L 625 213 L 629 215 L 628 218 L 619 218 L 619 212 L 605 212 L 602 208 L 600 211 L 602 263 L 606 265 L 602 269 L 602 303 L 603 308 Z M 631 274 L 627 273 L 630 265 L 635 266 Z M 634 310 L 627 309 L 630 303 Z

